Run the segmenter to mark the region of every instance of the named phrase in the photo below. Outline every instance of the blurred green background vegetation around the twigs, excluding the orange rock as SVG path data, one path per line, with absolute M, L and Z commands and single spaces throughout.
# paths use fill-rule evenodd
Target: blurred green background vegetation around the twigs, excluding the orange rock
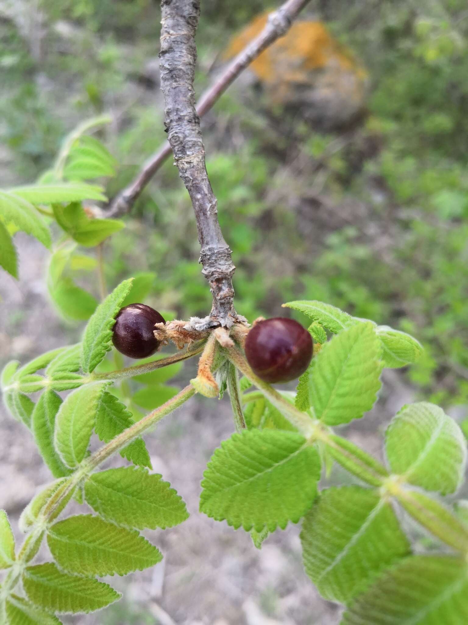
M 202 0 L 198 93 L 228 37 L 278 4 Z M 203 119 L 236 308 L 252 320 L 319 299 L 411 332 L 426 347 L 407 372 L 421 395 L 466 403 L 466 0 L 314 0 L 306 18 L 366 68 L 366 110 L 324 131 L 240 79 Z M 66 133 L 107 112 L 98 136 L 119 163 L 107 194 L 129 183 L 165 140 L 159 20 L 154 0 L 0 2 L 2 186 L 36 179 Z M 155 272 L 149 303 L 207 314 L 192 208 L 170 160 L 126 219 L 105 244 L 107 283 Z

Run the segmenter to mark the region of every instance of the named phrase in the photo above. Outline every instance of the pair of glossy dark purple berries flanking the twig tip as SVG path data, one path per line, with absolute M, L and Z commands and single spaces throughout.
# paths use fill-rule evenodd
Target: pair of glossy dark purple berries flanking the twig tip
M 112 342 L 130 358 L 152 356 L 160 346 L 154 325 L 165 319 L 146 304 L 130 304 L 115 318 Z M 259 321 L 248 332 L 245 356 L 253 372 L 265 382 L 289 382 L 309 366 L 313 342 L 300 323 L 286 317 Z

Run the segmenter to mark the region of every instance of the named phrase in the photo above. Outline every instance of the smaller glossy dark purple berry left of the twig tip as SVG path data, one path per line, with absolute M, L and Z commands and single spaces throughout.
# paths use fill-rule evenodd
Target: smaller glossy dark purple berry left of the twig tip
M 154 324 L 165 323 L 164 317 L 146 304 L 129 304 L 115 317 L 112 342 L 115 349 L 130 358 L 152 356 L 160 346 L 155 339 Z

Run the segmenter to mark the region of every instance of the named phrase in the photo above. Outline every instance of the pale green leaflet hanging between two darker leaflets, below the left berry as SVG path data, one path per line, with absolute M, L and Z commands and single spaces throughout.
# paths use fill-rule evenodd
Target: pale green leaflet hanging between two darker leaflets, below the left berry
M 99 397 L 109 382 L 91 382 L 72 391 L 57 412 L 54 447 L 71 469 L 82 461 L 94 427 Z

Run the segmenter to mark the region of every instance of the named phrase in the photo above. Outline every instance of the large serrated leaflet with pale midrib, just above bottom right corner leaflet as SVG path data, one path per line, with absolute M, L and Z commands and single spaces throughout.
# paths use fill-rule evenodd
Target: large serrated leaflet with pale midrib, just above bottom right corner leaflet
M 301 531 L 306 573 L 329 601 L 348 602 L 409 553 L 391 503 L 359 486 L 321 492 Z

